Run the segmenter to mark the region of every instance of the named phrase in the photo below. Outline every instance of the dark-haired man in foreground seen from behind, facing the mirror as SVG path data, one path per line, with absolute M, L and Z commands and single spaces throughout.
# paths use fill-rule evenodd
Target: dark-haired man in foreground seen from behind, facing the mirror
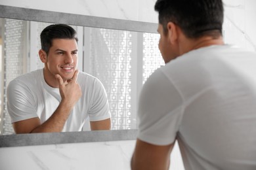
M 256 169 L 256 54 L 226 45 L 221 0 L 158 0 L 165 66 L 139 101 L 132 169 Z M 175 162 L 171 162 L 175 163 Z

